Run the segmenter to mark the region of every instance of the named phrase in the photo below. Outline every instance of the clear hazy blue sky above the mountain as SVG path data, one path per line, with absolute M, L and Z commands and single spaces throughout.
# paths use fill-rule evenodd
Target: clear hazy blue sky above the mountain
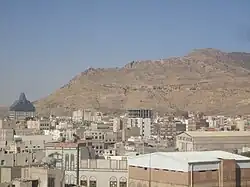
M 250 51 L 249 7 L 249 0 L 1 0 L 0 105 L 20 92 L 46 96 L 91 66 L 193 48 Z

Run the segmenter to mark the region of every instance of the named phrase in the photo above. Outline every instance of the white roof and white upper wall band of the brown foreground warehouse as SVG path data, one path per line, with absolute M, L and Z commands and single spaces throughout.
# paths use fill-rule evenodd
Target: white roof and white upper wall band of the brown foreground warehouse
M 209 171 L 218 170 L 220 160 L 236 160 L 241 167 L 250 168 L 250 158 L 225 151 L 155 152 L 128 157 L 128 165 L 179 172 Z

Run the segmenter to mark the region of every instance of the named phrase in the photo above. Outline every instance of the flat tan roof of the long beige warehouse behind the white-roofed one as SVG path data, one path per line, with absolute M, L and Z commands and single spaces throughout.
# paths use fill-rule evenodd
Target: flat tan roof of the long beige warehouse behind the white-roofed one
M 184 133 L 192 137 L 250 136 L 250 131 L 189 131 Z

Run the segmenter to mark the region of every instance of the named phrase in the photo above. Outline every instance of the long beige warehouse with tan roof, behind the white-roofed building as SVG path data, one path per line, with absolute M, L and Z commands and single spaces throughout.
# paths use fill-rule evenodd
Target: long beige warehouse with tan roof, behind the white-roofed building
M 235 152 L 249 146 L 250 131 L 190 131 L 176 136 L 176 148 L 179 151 Z

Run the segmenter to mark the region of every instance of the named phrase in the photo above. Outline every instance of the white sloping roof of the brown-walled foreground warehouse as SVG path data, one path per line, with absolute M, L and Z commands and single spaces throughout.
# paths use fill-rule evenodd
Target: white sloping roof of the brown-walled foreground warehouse
M 128 159 L 130 166 L 167 169 L 187 172 L 189 164 L 219 162 L 220 159 L 233 159 L 249 161 L 250 158 L 228 153 L 225 151 L 200 151 L 200 152 L 156 152 L 139 155 Z

